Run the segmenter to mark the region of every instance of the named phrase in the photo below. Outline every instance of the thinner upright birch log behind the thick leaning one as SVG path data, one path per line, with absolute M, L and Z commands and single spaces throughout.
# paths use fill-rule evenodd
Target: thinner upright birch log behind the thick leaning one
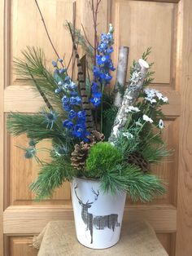
M 116 107 L 120 107 L 123 99 L 120 95 L 120 87 L 124 87 L 126 77 L 127 77 L 127 69 L 128 69 L 128 58 L 129 58 L 129 47 L 120 46 L 119 48 L 119 57 L 118 57 L 118 65 L 116 72 L 116 86 L 115 86 L 115 99 L 114 105 Z

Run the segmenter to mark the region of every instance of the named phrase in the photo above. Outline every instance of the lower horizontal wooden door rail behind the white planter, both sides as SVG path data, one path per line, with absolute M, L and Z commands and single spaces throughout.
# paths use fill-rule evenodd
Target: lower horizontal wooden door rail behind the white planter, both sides
M 144 218 L 156 232 L 176 231 L 176 208 L 172 205 L 132 205 L 124 210 L 124 221 L 130 218 Z M 4 212 L 4 232 L 28 234 L 41 232 L 51 220 L 72 220 L 72 205 L 18 205 L 10 206 Z

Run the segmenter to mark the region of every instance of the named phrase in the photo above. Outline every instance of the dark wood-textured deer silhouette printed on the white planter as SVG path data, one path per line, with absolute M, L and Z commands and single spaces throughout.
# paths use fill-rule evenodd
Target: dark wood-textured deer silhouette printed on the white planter
M 79 201 L 79 204 L 81 205 L 81 218 L 83 222 L 86 225 L 86 230 L 89 230 L 91 241 L 90 243 L 93 243 L 93 229 L 94 227 L 98 230 L 103 230 L 105 228 L 111 229 L 113 232 L 115 230 L 115 227 L 120 227 L 120 223 L 118 223 L 118 214 L 108 214 L 108 215 L 94 215 L 90 214 L 88 212 L 89 208 L 94 204 L 95 201 L 98 200 L 99 191 L 95 192 L 92 188 L 92 192 L 94 193 L 94 201 L 89 202 L 89 200 L 86 203 L 83 203 L 82 200 L 77 196 L 76 188 L 78 188 L 78 185 L 75 186 L 75 194 L 76 198 Z

